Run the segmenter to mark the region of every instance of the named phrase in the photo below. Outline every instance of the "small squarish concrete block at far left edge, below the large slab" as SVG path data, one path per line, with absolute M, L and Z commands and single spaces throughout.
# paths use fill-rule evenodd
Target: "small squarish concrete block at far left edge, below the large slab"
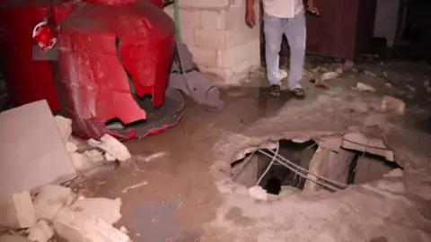
M 0 202 L 0 227 L 27 229 L 36 222 L 36 213 L 28 191 L 12 194 Z

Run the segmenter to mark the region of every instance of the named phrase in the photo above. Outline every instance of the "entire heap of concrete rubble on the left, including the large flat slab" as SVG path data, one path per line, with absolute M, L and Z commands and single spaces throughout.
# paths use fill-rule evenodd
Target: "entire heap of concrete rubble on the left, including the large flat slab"
M 106 134 L 100 142 L 87 141 L 93 144 L 90 149 L 81 149 L 72 136 L 72 121 L 53 117 L 45 100 L 1 113 L 0 125 L 8 131 L 0 137 L 7 143 L 0 148 L 0 160 L 13 157 L 0 164 L 0 181 L 7 185 L 0 188 L 0 227 L 16 231 L 0 241 L 48 242 L 55 234 L 71 242 L 130 241 L 112 226 L 121 219 L 121 199 L 78 198 L 71 188 L 58 185 L 75 178 L 76 171 L 128 160 L 126 146 Z

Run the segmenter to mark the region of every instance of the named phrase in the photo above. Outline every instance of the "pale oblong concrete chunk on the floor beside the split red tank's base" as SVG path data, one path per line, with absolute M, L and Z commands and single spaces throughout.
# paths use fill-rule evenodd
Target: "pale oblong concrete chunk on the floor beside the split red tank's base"
M 90 139 L 88 143 L 93 147 L 98 147 L 99 149 L 110 153 L 110 155 L 119 161 L 126 161 L 131 158 L 128 148 L 110 134 L 104 134 L 101 136 L 100 142 Z

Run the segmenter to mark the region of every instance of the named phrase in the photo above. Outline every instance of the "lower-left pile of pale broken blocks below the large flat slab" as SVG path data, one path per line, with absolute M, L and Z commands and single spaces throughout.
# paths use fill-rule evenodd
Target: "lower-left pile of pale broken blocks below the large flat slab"
M 48 242 L 57 235 L 71 242 L 128 242 L 124 229 L 112 226 L 120 209 L 120 198 L 77 197 L 65 186 L 41 186 L 33 199 L 24 191 L 0 203 L 0 226 L 13 231 L 0 241 Z

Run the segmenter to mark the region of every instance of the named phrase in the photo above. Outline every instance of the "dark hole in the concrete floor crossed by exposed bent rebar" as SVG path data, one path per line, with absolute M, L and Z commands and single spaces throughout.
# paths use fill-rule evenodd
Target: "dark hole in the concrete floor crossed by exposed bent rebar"
M 337 192 L 383 177 L 393 169 L 402 169 L 382 156 L 367 152 L 323 149 L 314 141 L 295 143 L 279 141 L 275 150 L 262 149 L 231 163 L 233 181 L 250 188 L 261 186 L 268 194 L 286 195 L 302 190 Z M 281 160 L 280 163 L 278 160 Z

